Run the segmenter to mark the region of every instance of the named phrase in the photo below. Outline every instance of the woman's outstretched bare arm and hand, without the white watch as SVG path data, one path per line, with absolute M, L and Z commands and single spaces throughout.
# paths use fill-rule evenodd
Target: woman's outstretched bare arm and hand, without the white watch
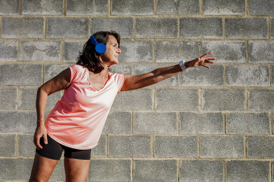
M 216 59 L 216 58 L 209 58 L 208 56 L 211 54 L 212 52 L 209 52 L 197 59 L 185 62 L 186 68 L 197 67 L 197 66 L 204 66 L 206 68 L 210 68 L 205 63 L 214 63 L 213 61 L 209 61 L 209 60 Z M 172 77 L 180 73 L 181 71 L 182 71 L 181 66 L 177 64 L 174 66 L 158 68 L 149 73 L 145 73 L 141 75 L 124 75 L 124 84 L 121 91 L 133 90 L 133 89 L 142 88 L 148 85 L 152 85 L 166 78 Z

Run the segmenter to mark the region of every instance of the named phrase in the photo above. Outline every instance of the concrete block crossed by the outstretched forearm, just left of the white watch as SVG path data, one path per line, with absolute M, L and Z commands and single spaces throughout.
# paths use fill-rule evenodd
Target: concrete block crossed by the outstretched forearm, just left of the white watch
M 134 70 L 136 75 L 144 74 L 151 72 L 157 68 L 162 68 L 166 66 L 172 66 L 172 65 L 135 65 Z M 178 74 L 174 75 L 173 77 L 167 78 L 161 82 L 153 84 L 153 86 L 178 86 Z

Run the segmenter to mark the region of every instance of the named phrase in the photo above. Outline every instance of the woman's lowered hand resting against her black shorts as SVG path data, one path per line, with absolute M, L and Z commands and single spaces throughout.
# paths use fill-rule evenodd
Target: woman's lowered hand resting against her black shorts
M 44 143 L 48 144 L 47 130 L 46 130 L 44 122 L 37 123 L 37 127 L 36 127 L 35 134 L 33 137 L 33 143 L 35 144 L 35 146 L 38 150 L 43 149 L 43 147 L 40 144 L 41 137 L 43 137 Z

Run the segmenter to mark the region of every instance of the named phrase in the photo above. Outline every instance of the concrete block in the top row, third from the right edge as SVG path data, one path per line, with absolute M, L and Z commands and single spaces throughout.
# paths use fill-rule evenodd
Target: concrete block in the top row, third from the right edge
M 198 1 L 172 1 L 172 0 L 158 0 L 157 1 L 157 14 L 168 15 L 187 15 L 187 14 L 199 14 L 199 2 Z

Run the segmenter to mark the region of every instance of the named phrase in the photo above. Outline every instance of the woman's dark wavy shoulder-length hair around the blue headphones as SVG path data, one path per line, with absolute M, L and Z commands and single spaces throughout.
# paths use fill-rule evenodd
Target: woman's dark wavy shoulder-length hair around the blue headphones
M 115 31 L 99 31 L 93 34 L 95 40 L 98 43 L 104 44 L 108 43 L 109 35 L 113 35 L 116 38 L 118 45 L 120 45 L 120 35 Z M 95 74 L 99 73 L 104 69 L 103 64 L 98 59 L 100 55 L 101 54 L 95 51 L 95 45 L 89 38 L 88 41 L 84 44 L 83 51 L 79 54 L 76 64 L 88 68 L 89 71 Z

